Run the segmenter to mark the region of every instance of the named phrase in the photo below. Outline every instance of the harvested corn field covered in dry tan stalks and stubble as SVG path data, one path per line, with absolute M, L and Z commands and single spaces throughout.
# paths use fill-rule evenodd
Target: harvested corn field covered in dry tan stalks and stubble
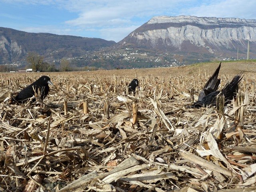
M 217 66 L 0 74 L 0 191 L 256 190 L 256 64 L 222 64 L 228 106 L 186 107 Z M 43 103 L 4 102 L 42 75 Z

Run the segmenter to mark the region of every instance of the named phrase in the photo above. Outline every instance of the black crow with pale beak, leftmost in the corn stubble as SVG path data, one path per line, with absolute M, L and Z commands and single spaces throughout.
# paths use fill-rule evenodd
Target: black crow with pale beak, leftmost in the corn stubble
M 26 102 L 29 98 L 35 95 L 35 91 L 37 94 L 39 94 L 40 92 L 39 96 L 41 100 L 44 100 L 44 98 L 47 96 L 49 92 L 48 84 L 53 86 L 48 76 L 42 76 L 38 80 L 36 80 L 34 83 L 30 84 L 29 86 L 21 90 L 19 94 L 14 98 L 14 100 L 19 103 Z M 39 92 L 38 92 L 38 89 L 39 89 Z M 36 101 L 36 99 L 33 99 L 32 101 L 34 102 Z

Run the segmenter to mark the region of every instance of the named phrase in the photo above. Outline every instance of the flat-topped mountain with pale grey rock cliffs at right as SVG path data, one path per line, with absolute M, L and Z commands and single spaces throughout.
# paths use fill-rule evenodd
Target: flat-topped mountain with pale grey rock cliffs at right
M 196 16 L 156 16 L 118 42 L 119 48 L 236 58 L 256 56 L 256 20 Z

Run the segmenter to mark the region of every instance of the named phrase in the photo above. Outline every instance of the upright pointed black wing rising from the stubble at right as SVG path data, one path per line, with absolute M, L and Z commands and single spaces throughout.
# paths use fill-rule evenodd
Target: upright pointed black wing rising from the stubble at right
M 221 62 L 220 62 L 220 65 L 221 65 Z M 200 94 L 198 96 L 198 101 L 201 101 L 206 95 L 208 95 L 218 89 L 218 86 L 220 84 L 220 79 L 218 79 L 220 65 L 218 66 L 218 68 L 216 69 L 214 74 L 212 74 L 210 79 L 206 82 L 203 90 L 200 92 Z

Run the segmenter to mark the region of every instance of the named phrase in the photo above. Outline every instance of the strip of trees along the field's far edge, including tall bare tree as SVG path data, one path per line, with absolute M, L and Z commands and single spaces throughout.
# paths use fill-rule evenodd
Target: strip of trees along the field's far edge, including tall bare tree
M 95 56 L 96 59 L 97 56 Z M 49 63 L 44 60 L 44 57 L 36 52 L 28 52 L 26 56 L 27 65 L 14 66 L 14 65 L 0 65 L 0 72 L 9 72 L 24 70 L 27 68 L 32 68 L 34 72 L 58 72 L 58 71 L 83 71 L 83 70 L 98 70 L 98 69 L 122 69 L 122 68 L 143 68 L 143 67 L 155 67 L 155 62 L 145 62 L 140 60 L 140 62 L 129 62 L 117 59 L 106 59 L 101 58 L 98 60 L 67 60 L 62 59 L 60 61 Z M 19 69 L 17 69 L 19 68 Z

